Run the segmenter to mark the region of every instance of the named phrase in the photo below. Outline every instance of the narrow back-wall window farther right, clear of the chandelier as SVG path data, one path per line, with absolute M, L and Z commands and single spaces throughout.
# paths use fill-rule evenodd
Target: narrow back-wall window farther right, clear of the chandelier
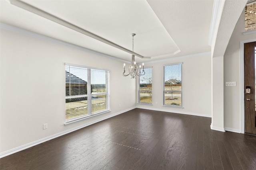
M 164 66 L 164 106 L 182 107 L 182 63 Z

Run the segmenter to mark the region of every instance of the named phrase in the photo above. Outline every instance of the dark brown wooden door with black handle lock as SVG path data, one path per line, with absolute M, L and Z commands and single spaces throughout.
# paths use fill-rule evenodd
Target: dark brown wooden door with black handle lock
M 244 44 L 244 132 L 251 134 L 256 134 L 255 47 L 256 42 Z

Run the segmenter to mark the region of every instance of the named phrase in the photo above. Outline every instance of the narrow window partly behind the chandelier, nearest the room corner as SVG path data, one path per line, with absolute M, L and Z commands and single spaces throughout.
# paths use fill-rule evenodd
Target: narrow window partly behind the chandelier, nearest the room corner
M 152 104 L 152 67 L 144 71 L 145 74 L 139 76 L 139 103 Z

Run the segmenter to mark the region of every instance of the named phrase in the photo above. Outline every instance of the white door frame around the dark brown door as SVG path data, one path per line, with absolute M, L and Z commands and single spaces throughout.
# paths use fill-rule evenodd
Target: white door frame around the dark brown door
M 250 39 L 246 41 L 240 41 L 240 101 L 241 101 L 241 127 L 240 133 L 244 133 L 244 44 L 256 41 L 256 39 Z

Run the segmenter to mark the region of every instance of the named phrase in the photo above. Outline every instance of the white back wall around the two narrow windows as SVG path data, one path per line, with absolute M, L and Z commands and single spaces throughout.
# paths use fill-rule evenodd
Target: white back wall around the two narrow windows
M 184 108 L 163 106 L 163 65 L 172 63 L 183 63 L 182 105 Z M 152 105 L 137 104 L 137 107 L 211 117 L 210 52 L 177 57 L 156 63 L 145 63 L 145 67 L 147 66 L 152 66 Z M 156 102 L 158 102 L 157 105 Z

